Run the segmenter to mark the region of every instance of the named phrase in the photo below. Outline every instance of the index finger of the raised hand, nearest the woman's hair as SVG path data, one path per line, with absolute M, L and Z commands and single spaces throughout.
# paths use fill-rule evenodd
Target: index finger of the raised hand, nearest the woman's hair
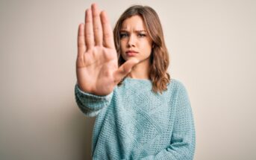
M 101 16 L 102 28 L 103 28 L 103 44 L 107 48 L 115 48 L 115 45 L 113 42 L 113 31 L 111 29 L 110 22 L 107 19 L 107 13 L 102 11 L 100 16 Z

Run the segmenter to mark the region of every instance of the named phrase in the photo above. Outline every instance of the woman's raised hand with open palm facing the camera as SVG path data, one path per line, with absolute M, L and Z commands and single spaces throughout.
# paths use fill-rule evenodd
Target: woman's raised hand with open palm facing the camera
M 85 23 L 78 28 L 76 74 L 78 86 L 93 95 L 108 95 L 138 60 L 131 59 L 118 68 L 113 31 L 107 14 L 92 4 Z

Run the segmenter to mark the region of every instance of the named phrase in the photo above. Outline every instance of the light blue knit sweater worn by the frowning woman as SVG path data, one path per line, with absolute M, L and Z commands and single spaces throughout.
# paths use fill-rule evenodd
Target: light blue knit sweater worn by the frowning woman
M 193 159 L 196 136 L 184 85 L 175 79 L 162 94 L 151 80 L 125 78 L 109 95 L 81 91 L 75 99 L 87 116 L 96 116 L 93 159 Z

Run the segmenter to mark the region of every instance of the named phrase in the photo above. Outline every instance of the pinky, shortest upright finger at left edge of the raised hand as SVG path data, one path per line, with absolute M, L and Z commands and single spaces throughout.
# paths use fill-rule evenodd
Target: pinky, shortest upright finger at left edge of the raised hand
M 82 57 L 85 51 L 84 43 L 84 24 L 80 24 L 78 27 L 78 57 Z

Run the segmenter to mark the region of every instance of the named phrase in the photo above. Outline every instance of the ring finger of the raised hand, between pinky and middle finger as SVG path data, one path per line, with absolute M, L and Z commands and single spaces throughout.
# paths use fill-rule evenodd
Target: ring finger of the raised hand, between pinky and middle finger
M 85 16 L 85 43 L 87 46 L 87 51 L 93 48 L 94 45 L 94 36 L 93 36 L 93 17 L 92 17 L 92 10 L 87 9 L 86 16 Z

